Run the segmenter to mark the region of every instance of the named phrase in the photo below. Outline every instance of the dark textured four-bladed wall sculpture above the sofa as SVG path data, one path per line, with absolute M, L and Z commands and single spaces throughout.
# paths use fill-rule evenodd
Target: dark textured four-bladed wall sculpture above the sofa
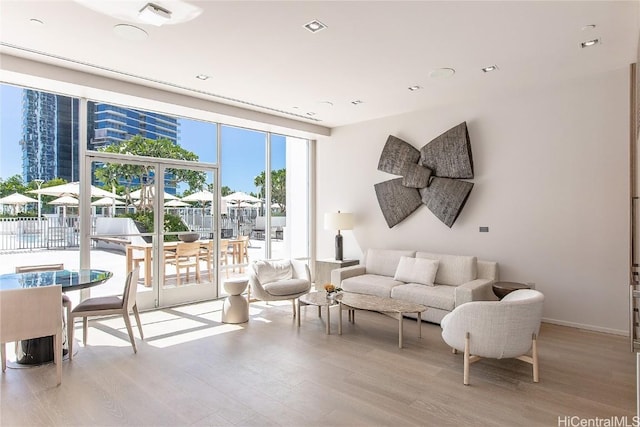
M 404 221 L 424 203 L 451 227 L 469 198 L 473 183 L 473 156 L 467 123 L 449 129 L 417 150 L 389 135 L 378 170 L 402 178 L 376 184 L 376 196 L 389 228 Z

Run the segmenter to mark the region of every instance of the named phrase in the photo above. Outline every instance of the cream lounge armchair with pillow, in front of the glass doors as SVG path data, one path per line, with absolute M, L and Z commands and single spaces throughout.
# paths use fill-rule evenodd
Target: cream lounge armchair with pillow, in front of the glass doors
M 296 299 L 311 289 L 309 266 L 302 261 L 261 260 L 249 266 L 251 295 L 262 301 L 291 300 L 293 317 Z

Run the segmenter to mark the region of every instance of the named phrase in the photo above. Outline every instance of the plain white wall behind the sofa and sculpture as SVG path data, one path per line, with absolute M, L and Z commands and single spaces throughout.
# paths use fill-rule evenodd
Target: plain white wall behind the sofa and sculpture
M 356 214 L 345 258 L 367 248 L 471 254 L 534 282 L 548 321 L 628 331 L 629 71 L 334 129 L 318 141 L 317 217 Z M 426 95 L 428 96 L 428 95 Z M 387 136 L 420 148 L 467 121 L 475 186 L 451 229 L 421 206 L 389 229 L 374 184 Z M 479 233 L 488 226 L 489 233 Z M 318 258 L 333 255 L 317 222 Z

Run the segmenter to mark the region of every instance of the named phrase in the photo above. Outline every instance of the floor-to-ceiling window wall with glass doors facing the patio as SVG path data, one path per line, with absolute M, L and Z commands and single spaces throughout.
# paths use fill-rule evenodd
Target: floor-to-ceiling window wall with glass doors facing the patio
M 245 268 L 251 261 L 309 258 L 307 140 L 99 101 L 86 104 L 87 139 L 81 140 L 78 110 L 86 101 L 10 85 L 0 86 L 0 91 L 0 197 L 19 192 L 33 199 L 0 204 L 4 215 L 0 257 L 5 260 L 21 251 L 41 251 L 47 260 L 60 259 L 68 268 L 80 266 L 80 195 L 71 195 L 79 201 L 60 204 L 53 203 L 56 196 L 37 196 L 29 191 L 81 180 L 83 151 L 92 156 L 88 167 L 91 184 L 118 196 L 90 197 L 87 202 L 91 204 L 91 266 L 118 272 L 112 286 L 92 289 L 93 295 L 117 293 L 126 270 L 134 265 L 143 271 L 143 295 L 154 286 L 180 288 L 191 295 L 189 289 L 207 283 L 216 289 L 208 295 L 219 295 L 219 279 L 246 276 Z M 114 157 L 96 157 L 94 151 Z M 118 157 L 122 155 L 130 160 Z M 145 163 L 143 157 L 150 159 Z M 179 164 L 172 167 L 171 159 Z M 197 164 L 184 163 L 189 161 Z M 162 189 L 157 198 L 153 193 L 156 188 Z M 136 198 L 136 192 L 142 196 Z M 145 211 L 146 216 L 136 216 Z M 42 220 L 38 220 L 38 212 Z M 28 216 L 31 219 L 26 219 Z M 125 217 L 134 221 L 135 229 L 97 228 Z M 150 271 L 144 249 L 128 255 L 127 245 L 138 238 L 155 242 L 156 247 L 160 241 L 177 239 L 180 227 L 163 226 L 158 233 L 149 228 L 159 218 L 158 224 L 181 224 L 197 232 L 201 240 L 215 242 L 212 249 L 203 248 L 203 252 L 212 250 L 213 256 L 202 261 L 198 281 L 193 274 L 187 277 L 178 272 L 173 264 L 165 269 L 167 254 L 163 250 L 152 251 L 151 263 L 156 264 Z M 51 226 L 44 225 L 49 222 Z M 231 242 L 224 251 L 218 246 L 221 240 Z M 239 250 L 240 240 L 246 242 L 245 256 Z M 0 266 L 14 264 L 9 261 Z M 184 278 L 179 284 L 178 274 Z M 157 295 L 149 301 L 149 306 L 161 304 Z M 168 304 L 177 302 L 167 299 Z

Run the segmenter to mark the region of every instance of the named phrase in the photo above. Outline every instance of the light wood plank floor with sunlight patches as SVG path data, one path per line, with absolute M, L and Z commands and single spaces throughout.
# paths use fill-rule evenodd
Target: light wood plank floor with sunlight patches
M 315 307 L 303 308 L 298 329 L 289 303 L 252 303 L 243 325 L 220 323 L 221 306 L 143 313 L 137 355 L 121 319 L 91 322 L 60 387 L 51 365 L 7 369 L 0 424 L 557 426 L 559 417 L 630 423 L 635 414 L 635 355 L 624 337 L 544 324 L 540 383 L 528 364 L 483 360 L 465 387 L 462 355 L 438 325 L 424 323 L 419 339 L 405 319 L 399 349 L 397 322 L 376 313 L 358 312 L 339 336 L 337 312 L 335 334 L 325 335 Z

